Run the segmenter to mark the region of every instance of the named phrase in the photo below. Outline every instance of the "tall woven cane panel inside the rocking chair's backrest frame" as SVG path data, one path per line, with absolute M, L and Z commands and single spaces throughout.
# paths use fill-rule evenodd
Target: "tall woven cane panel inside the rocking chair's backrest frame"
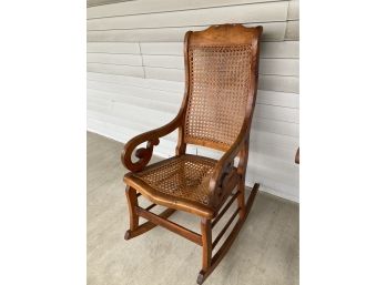
M 191 93 L 185 141 L 230 146 L 238 135 L 246 112 L 252 47 L 190 47 Z

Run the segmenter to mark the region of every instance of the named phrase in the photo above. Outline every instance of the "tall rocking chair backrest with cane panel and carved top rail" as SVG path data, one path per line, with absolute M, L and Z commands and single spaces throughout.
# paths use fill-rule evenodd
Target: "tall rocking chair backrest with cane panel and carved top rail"
M 262 27 L 212 26 L 185 35 L 186 103 L 183 141 L 226 151 L 256 96 Z

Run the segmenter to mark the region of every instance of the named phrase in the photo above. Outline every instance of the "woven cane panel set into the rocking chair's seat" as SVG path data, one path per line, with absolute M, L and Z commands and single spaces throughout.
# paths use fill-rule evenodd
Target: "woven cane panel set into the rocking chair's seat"
M 209 183 L 215 163 L 211 159 L 186 154 L 162 161 L 134 175 L 159 192 L 207 205 Z

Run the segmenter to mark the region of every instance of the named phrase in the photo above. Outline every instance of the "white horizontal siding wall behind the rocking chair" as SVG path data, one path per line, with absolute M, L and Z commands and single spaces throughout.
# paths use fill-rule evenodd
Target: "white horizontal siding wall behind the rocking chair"
M 298 201 L 298 1 L 138 0 L 88 8 L 88 129 L 126 142 L 169 122 L 183 96 L 184 33 L 226 22 L 264 27 L 247 184 Z M 173 155 L 175 142 L 176 133 L 164 138 L 155 153 Z

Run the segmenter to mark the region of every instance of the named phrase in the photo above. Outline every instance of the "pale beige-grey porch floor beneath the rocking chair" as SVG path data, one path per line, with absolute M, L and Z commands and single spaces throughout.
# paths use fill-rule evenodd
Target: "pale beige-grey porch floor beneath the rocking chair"
M 88 133 L 88 285 L 195 284 L 200 246 L 162 227 L 123 240 L 129 220 L 122 146 Z M 141 203 L 149 204 L 143 197 Z M 177 212 L 171 220 L 200 233 L 194 216 Z M 257 194 L 233 247 L 204 284 L 298 284 L 298 204 Z

